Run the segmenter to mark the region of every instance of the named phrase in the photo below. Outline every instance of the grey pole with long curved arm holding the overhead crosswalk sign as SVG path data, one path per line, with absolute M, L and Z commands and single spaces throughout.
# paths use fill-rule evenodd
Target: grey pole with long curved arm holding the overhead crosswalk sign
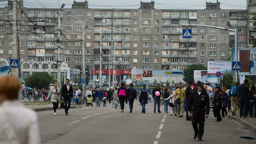
M 230 26 L 229 21 L 227 22 Z M 223 27 L 217 27 L 217 26 L 207 26 L 207 25 L 200 25 L 200 24 L 183 24 L 182 26 L 199 26 L 199 27 L 210 27 L 210 28 L 215 28 L 215 29 L 222 29 L 222 30 L 227 30 L 230 32 L 235 32 L 235 61 L 238 61 L 238 49 L 237 49 L 237 29 L 227 29 L 227 28 L 223 28 Z M 238 81 L 238 71 L 235 71 L 235 81 Z

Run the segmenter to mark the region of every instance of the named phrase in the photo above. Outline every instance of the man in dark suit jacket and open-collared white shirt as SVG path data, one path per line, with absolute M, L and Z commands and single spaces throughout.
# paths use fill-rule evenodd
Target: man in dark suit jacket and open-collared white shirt
M 73 88 L 69 84 L 69 79 L 66 79 L 66 84 L 62 86 L 61 98 L 64 99 L 65 115 L 68 115 L 68 109 L 70 108 L 71 98 L 73 99 Z M 68 106 L 67 106 L 68 104 Z

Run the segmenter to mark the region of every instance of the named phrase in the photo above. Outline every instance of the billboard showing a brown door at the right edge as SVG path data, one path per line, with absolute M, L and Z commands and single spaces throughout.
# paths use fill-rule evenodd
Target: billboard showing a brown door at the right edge
M 238 48 L 237 55 L 238 61 L 241 61 L 238 75 L 256 75 L 256 48 Z M 232 48 L 232 61 L 235 61 L 235 48 Z

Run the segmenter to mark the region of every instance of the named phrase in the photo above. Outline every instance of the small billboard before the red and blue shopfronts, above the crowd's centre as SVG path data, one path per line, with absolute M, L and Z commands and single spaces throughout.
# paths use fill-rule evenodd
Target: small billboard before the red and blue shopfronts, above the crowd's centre
M 152 70 L 132 69 L 132 80 L 152 80 Z

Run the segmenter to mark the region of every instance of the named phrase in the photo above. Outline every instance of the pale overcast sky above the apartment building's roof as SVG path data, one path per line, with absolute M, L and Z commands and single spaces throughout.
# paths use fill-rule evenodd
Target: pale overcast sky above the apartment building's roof
M 56 0 L 37 0 L 47 8 L 57 8 Z M 36 0 L 24 0 L 25 7 L 43 8 Z M 61 4 L 66 4 L 65 8 L 71 8 L 73 0 L 60 0 Z M 85 0 L 76 0 L 84 2 Z M 102 9 L 138 9 L 141 0 L 88 0 L 89 8 Z M 150 2 L 151 0 L 142 0 Z M 206 1 L 216 3 L 216 0 L 154 0 L 156 9 L 205 9 Z M 219 0 L 221 9 L 246 10 L 246 0 Z M 0 2 L 0 7 L 4 7 L 7 1 Z

